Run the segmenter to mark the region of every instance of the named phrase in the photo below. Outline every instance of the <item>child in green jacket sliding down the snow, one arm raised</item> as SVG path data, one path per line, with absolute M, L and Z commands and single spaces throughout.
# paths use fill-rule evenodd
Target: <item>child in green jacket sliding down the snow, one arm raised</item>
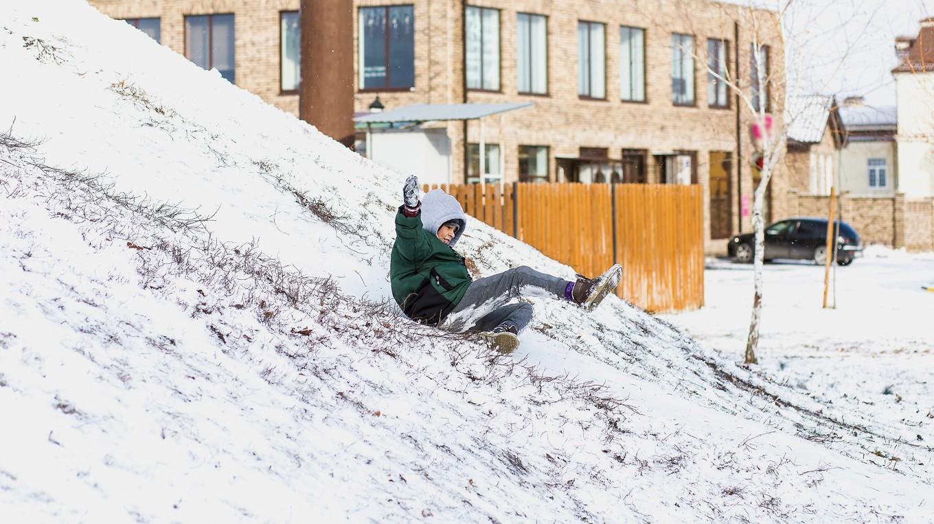
M 510 304 L 510 299 L 534 291 L 531 287 L 592 310 L 619 283 L 619 265 L 596 279 L 577 275 L 576 282 L 527 266 L 472 281 L 464 257 L 453 249 L 467 225 L 460 202 L 441 189 L 419 201 L 418 192 L 417 177 L 408 177 L 389 263 L 392 296 L 414 321 L 449 331 L 469 326 L 468 331 L 493 348 L 511 352 L 518 347 L 518 333 L 531 321 L 532 309 L 528 302 Z

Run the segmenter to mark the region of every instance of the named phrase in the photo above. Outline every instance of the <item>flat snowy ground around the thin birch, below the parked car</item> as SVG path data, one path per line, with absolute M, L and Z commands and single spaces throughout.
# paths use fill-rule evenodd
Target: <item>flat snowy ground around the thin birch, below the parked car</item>
M 824 309 L 824 268 L 810 261 L 766 264 L 757 358 L 774 379 L 875 421 L 902 438 L 934 441 L 934 254 L 870 246 L 866 256 L 831 272 Z M 705 307 L 661 315 L 702 345 L 742 359 L 752 307 L 752 266 L 709 259 Z M 878 462 L 884 462 L 879 460 Z

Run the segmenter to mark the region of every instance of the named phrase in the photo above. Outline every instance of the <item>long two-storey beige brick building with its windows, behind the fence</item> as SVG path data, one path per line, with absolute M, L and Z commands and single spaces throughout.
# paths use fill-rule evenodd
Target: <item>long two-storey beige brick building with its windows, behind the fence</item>
M 298 114 L 299 0 L 91 3 Z M 754 89 L 754 38 L 764 43 L 768 110 L 781 118 L 775 13 L 710 0 L 353 3 L 357 111 L 376 95 L 389 108 L 531 101 L 484 123 L 488 172 L 506 182 L 697 183 L 708 251 L 751 228 L 749 112 L 707 67 Z M 475 180 L 476 122 L 436 125 L 451 140 L 452 180 Z M 785 211 L 784 172 L 780 162 L 772 213 Z

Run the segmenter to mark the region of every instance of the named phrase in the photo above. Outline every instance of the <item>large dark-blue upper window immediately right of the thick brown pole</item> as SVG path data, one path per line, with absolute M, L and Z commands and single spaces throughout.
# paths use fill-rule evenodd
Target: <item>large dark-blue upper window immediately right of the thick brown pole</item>
M 415 8 L 361 7 L 359 15 L 361 89 L 414 87 Z

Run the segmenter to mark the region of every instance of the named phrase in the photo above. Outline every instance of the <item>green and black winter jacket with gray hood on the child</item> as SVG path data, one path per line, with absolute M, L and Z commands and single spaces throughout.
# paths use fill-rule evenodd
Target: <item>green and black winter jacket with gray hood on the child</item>
M 460 203 L 440 189 L 425 195 L 415 216 L 406 216 L 399 208 L 389 283 L 392 296 L 412 320 L 440 324 L 467 292 L 470 273 L 464 257 L 451 248 L 460 239 L 466 218 Z M 435 232 L 452 219 L 460 220 L 461 227 L 448 245 Z

